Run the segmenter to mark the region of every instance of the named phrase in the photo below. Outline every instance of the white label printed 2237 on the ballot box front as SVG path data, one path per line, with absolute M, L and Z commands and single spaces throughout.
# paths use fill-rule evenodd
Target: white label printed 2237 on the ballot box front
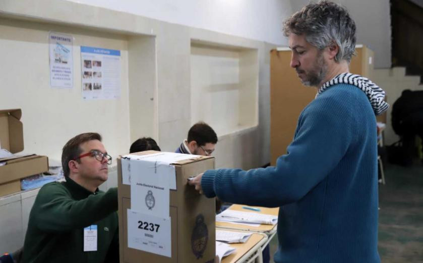
M 128 247 L 172 256 L 170 218 L 144 215 L 128 209 Z

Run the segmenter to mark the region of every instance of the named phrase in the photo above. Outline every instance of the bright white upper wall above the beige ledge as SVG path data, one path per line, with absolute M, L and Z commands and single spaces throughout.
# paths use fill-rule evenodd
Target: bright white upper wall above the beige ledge
M 278 45 L 286 43 L 281 21 L 291 13 L 286 0 L 68 1 Z

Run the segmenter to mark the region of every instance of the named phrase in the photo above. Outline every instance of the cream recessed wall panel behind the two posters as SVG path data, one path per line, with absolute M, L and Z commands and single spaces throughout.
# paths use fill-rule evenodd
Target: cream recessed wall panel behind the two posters
M 74 38 L 72 89 L 50 88 L 49 31 Z M 124 36 L 1 17 L 0 32 L 0 108 L 22 109 L 24 152 L 59 161 L 70 138 L 92 131 L 103 136 L 113 157 L 128 151 L 128 41 Z M 81 45 L 121 50 L 120 99 L 82 99 Z

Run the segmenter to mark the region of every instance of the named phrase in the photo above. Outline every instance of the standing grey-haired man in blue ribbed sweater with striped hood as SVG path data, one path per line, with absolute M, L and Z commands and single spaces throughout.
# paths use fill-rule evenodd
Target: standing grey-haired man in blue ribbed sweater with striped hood
M 207 197 L 280 206 L 276 263 L 380 262 L 375 114 L 385 92 L 349 73 L 355 23 L 340 5 L 310 3 L 284 22 L 291 67 L 316 98 L 275 167 L 208 170 L 190 181 Z

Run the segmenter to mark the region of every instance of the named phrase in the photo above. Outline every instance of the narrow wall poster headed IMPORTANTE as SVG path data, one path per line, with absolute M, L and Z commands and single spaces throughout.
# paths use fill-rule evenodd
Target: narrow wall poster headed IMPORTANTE
M 50 87 L 73 88 L 73 37 L 50 32 L 48 40 L 50 49 Z

